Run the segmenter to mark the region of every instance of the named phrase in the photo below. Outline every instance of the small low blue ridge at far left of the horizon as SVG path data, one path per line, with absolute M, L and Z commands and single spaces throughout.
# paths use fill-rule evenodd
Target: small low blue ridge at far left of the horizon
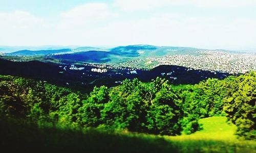
M 19 50 L 17 52 L 9 53 L 10 56 L 36 56 L 36 55 L 50 55 L 57 53 L 71 52 L 71 49 L 57 49 L 57 50 Z

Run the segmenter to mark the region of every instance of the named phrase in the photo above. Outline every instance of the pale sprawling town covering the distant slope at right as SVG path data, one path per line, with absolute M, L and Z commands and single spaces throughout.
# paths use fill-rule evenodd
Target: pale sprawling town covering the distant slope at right
M 201 51 L 199 55 L 170 55 L 148 57 L 119 63 L 120 67 L 152 69 L 159 65 L 178 65 L 194 69 L 220 71 L 228 73 L 245 73 L 256 70 L 255 53 L 227 53 L 219 51 Z

